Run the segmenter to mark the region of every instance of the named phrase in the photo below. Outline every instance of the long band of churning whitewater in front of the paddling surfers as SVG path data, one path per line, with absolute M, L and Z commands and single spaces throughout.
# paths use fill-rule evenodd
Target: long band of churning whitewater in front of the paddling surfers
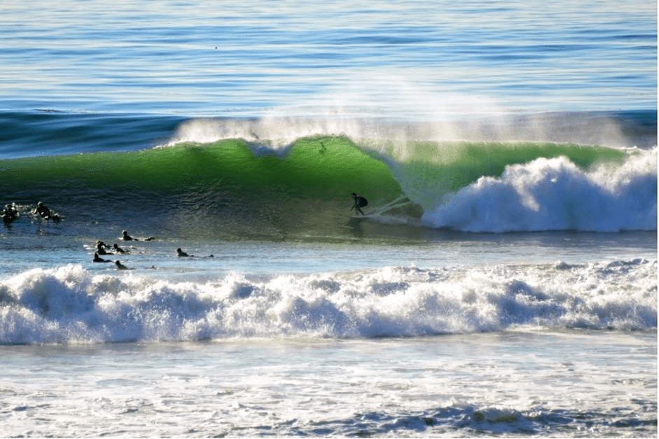
M 638 259 L 174 282 L 67 265 L 0 281 L 0 343 L 649 330 L 657 267 Z

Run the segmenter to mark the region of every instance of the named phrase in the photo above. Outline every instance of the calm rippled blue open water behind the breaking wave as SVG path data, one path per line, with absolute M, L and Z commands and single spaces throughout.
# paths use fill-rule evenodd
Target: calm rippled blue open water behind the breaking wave
M 653 2 L 4 5 L 4 109 L 395 118 L 656 109 Z

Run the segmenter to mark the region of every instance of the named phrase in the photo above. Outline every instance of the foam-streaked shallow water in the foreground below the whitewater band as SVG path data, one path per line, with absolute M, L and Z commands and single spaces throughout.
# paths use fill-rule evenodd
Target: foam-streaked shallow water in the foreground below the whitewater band
M 3 350 L 0 410 L 11 436 L 651 437 L 656 430 L 652 333 Z

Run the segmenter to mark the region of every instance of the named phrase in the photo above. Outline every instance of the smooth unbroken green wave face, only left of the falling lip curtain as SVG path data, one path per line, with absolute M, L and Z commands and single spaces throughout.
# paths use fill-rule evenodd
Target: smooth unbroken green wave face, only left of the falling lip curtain
M 387 165 L 343 137 L 300 139 L 282 150 L 229 139 L 4 160 L 0 169 L 6 200 L 43 200 L 69 218 L 141 218 L 186 235 L 331 230 L 345 223 L 353 192 L 373 205 L 402 193 Z

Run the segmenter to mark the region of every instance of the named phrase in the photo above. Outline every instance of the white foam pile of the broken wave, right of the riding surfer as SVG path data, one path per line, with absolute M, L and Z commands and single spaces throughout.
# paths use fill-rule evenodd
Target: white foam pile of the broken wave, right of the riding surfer
M 423 219 L 472 232 L 655 230 L 657 169 L 657 148 L 592 171 L 539 158 L 507 166 L 501 178 L 481 177 Z

